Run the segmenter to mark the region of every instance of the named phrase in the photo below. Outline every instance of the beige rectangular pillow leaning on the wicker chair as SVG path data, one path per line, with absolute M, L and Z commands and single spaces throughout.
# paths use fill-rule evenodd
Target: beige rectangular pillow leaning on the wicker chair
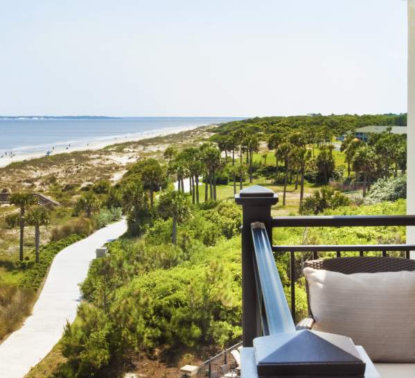
M 304 275 L 312 329 L 351 337 L 372 361 L 415 363 L 415 272 L 345 275 L 305 268 Z

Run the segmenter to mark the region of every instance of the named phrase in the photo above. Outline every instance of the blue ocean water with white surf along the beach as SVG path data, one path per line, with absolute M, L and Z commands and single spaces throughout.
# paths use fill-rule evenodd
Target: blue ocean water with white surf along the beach
M 230 117 L 0 119 L 0 156 L 59 153 L 222 123 Z

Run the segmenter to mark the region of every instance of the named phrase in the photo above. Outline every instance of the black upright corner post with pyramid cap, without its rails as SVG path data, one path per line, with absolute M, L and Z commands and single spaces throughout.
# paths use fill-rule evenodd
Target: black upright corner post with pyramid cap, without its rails
M 251 347 L 254 338 L 261 336 L 251 223 L 264 223 L 272 241 L 271 207 L 278 197 L 271 189 L 254 185 L 242 189 L 235 200 L 242 205 L 242 341 L 244 347 Z

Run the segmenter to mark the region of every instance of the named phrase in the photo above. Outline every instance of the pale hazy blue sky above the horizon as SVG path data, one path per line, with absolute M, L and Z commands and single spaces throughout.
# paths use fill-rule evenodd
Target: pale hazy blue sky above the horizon
M 0 0 L 0 114 L 407 109 L 401 0 Z

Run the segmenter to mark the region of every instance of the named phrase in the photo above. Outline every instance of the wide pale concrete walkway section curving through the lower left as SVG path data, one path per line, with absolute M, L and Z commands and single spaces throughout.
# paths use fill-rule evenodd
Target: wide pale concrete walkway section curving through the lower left
M 78 284 L 87 276 L 95 249 L 126 230 L 124 220 L 113 223 L 56 255 L 33 315 L 0 344 L 1 378 L 24 377 L 58 343 L 67 320 L 73 322 L 76 317 L 80 302 Z

